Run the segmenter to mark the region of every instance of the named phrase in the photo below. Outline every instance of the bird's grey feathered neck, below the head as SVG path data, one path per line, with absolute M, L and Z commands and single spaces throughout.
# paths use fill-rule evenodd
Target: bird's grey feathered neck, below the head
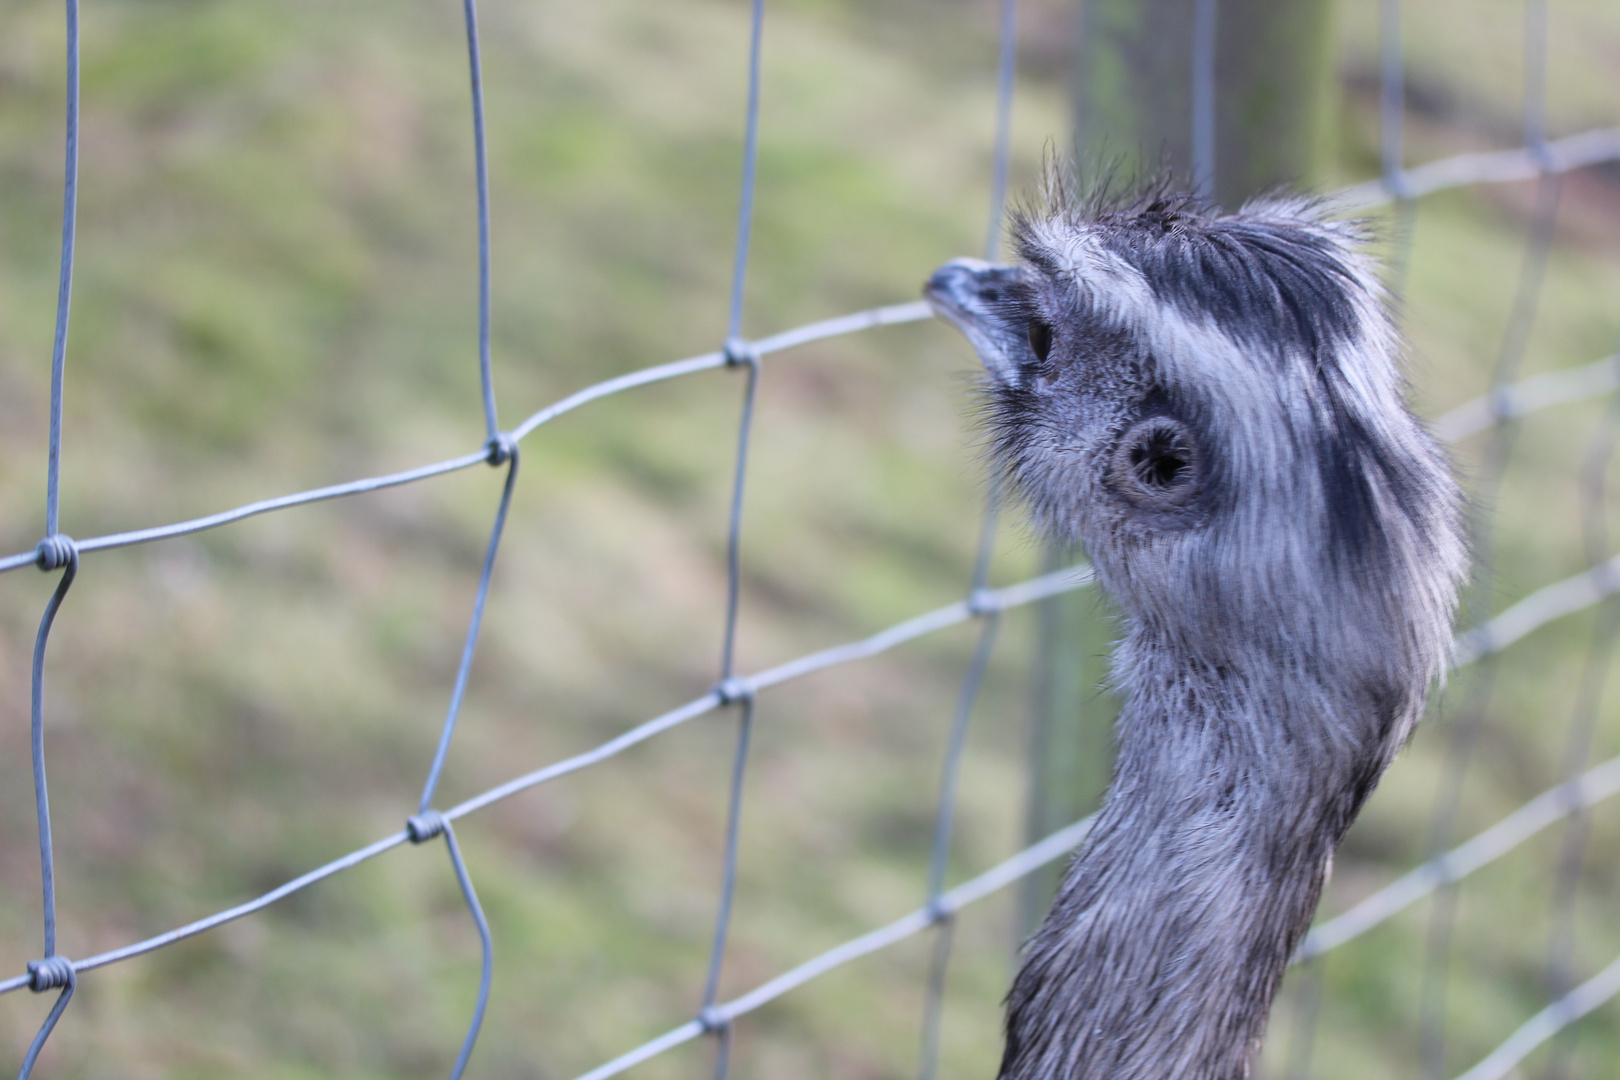
M 1322 683 L 1170 653 L 1118 657 L 1115 780 L 1009 994 L 1004 1080 L 1247 1077 L 1387 764 L 1387 717 Z

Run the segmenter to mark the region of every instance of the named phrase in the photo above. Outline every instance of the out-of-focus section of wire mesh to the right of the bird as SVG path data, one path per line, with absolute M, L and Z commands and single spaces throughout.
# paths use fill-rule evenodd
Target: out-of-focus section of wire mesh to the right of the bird
M 1588 155 L 1612 155 L 1620 130 L 1588 131 L 1555 142 L 1547 141 L 1545 79 L 1549 65 L 1549 11 L 1545 0 L 1526 0 L 1523 24 L 1524 99 L 1521 151 L 1474 154 L 1426 167 L 1405 167 L 1403 117 L 1405 117 L 1405 57 L 1401 53 L 1400 0 L 1380 2 L 1380 151 L 1383 175 L 1377 185 L 1362 185 L 1346 193 L 1346 204 L 1371 204 L 1379 194 L 1396 201 L 1398 238 L 1405 272 L 1409 257 L 1411 233 L 1416 223 L 1416 199 L 1440 186 L 1450 186 L 1460 175 L 1473 173 L 1487 180 L 1536 180 L 1536 206 L 1531 215 L 1516 295 L 1508 311 L 1492 377 L 1492 390 L 1447 413 L 1435 424 L 1437 434 L 1450 439 L 1489 432 L 1484 463 L 1476 471 L 1476 505 L 1490 507 L 1500 491 L 1513 450 L 1516 419 L 1529 411 L 1557 403 L 1575 402 L 1612 392 L 1605 385 L 1612 379 L 1614 361 L 1601 359 L 1575 371 L 1537 376 L 1515 384 L 1520 364 L 1529 345 L 1531 330 L 1541 306 L 1542 283 L 1552 254 L 1555 223 L 1563 186 L 1563 175 L 1591 162 Z M 1396 288 L 1398 291 L 1398 288 Z M 1545 1065 L 1545 1077 L 1562 1077 L 1573 1051 L 1568 1027 L 1591 1012 L 1617 991 L 1615 970 L 1571 989 L 1573 983 L 1573 908 L 1584 852 L 1586 814 L 1594 801 L 1610 797 L 1620 780 L 1620 759 L 1610 761 L 1580 776 L 1592 738 L 1607 669 L 1612 661 L 1617 615 L 1612 602 L 1605 602 L 1592 630 L 1583 661 L 1581 682 L 1570 719 L 1562 763 L 1563 784 L 1531 800 L 1486 831 L 1474 840 L 1445 852 L 1450 845 L 1461 806 L 1463 785 L 1474 761 L 1486 716 L 1492 706 L 1497 683 L 1497 654 L 1560 612 L 1573 612 L 1614 594 L 1617 565 L 1609 557 L 1609 538 L 1604 523 L 1604 474 L 1614 452 L 1615 410 L 1610 408 L 1588 447 L 1586 465 L 1580 484 L 1581 513 L 1586 531 L 1586 554 L 1591 570 L 1567 581 L 1547 586 L 1523 599 L 1495 619 L 1484 620 L 1492 599 L 1492 549 L 1494 521 L 1481 515 L 1474 525 L 1476 580 L 1471 594 L 1471 614 L 1476 628 L 1463 635 L 1456 648 L 1456 661 L 1479 661 L 1455 716 L 1447 725 L 1447 761 L 1443 779 L 1429 824 L 1430 858 L 1416 871 L 1406 874 L 1374 897 L 1356 905 L 1338 918 L 1319 925 L 1302 942 L 1299 959 L 1315 960 L 1311 978 L 1302 988 L 1296 1044 L 1290 1062 L 1290 1077 L 1302 1080 L 1309 1075 L 1314 1025 L 1317 1023 L 1322 996 L 1320 957 L 1328 949 L 1349 941 L 1371 926 L 1383 921 L 1396 910 L 1421 897 L 1434 895 L 1429 908 L 1427 949 L 1422 962 L 1419 989 L 1419 1040 L 1422 1072 L 1429 1080 L 1450 1075 L 1447 1052 L 1447 997 L 1452 983 L 1452 952 L 1456 925 L 1456 884 L 1463 876 L 1498 858 L 1529 836 L 1545 829 L 1554 821 L 1570 818 L 1558 871 L 1554 884 L 1554 931 L 1547 946 L 1545 988 L 1552 1004 L 1516 1031 L 1486 1061 L 1471 1069 L 1468 1080 L 1500 1077 L 1513 1069 L 1542 1041 L 1563 1031 Z

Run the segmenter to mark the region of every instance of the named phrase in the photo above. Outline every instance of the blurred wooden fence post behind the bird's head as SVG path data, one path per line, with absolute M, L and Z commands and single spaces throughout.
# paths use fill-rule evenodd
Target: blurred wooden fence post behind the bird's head
M 1314 183 L 1336 104 L 1332 0 L 1079 0 L 1074 149 L 1082 180 L 1162 164 L 1226 207 Z M 1048 568 L 1072 560 L 1050 549 Z M 1027 839 L 1094 808 L 1108 785 L 1119 703 L 1102 687 L 1111 609 L 1097 589 L 1043 601 L 1030 695 Z M 1030 874 L 1019 933 L 1047 910 L 1061 866 Z

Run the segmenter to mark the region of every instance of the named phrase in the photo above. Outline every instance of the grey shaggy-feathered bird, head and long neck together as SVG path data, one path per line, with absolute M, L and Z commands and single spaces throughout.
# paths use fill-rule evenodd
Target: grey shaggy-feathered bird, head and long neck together
M 925 295 L 990 457 L 1123 615 L 1097 824 L 1024 949 L 1001 1080 L 1243 1080 L 1333 852 L 1448 656 L 1461 497 L 1362 225 L 1163 181 L 1014 225 Z

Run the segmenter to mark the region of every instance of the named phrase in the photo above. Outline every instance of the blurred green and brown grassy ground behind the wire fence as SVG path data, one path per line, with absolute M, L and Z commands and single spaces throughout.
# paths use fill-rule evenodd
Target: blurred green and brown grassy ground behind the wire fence
M 1380 172 L 1377 5 L 1293 8 L 1302 15 L 1246 37 L 1252 57 L 1221 53 L 1217 74 L 1296 58 L 1291 83 L 1257 92 L 1307 105 L 1286 123 L 1223 115 L 1218 146 L 1239 147 L 1217 155 L 1223 199 L 1265 168 L 1324 189 Z M 1077 0 L 1019 3 L 1014 198 L 1076 131 L 1090 160 L 1160 139 L 1152 117 L 1110 113 L 1137 97 L 1103 76 L 1147 70 L 1119 66 L 1131 55 L 1124 10 L 1092 0 L 1087 23 Z M 748 5 L 488 0 L 480 16 L 494 374 L 510 426 L 723 340 Z M 1149 45 L 1178 32 L 1145 31 Z M 86 5 L 63 531 L 167 523 L 478 447 L 462 34 L 460 5 L 444 0 Z M 1401 34 L 1408 164 L 1523 144 L 1534 78 L 1521 0 L 1424 0 L 1408 5 Z M 1620 123 L 1620 10 L 1560 0 L 1547 36 L 1549 136 Z M 770 2 L 745 335 L 914 300 L 935 266 L 982 251 L 996 50 L 995 0 Z M 6 554 L 44 533 L 63 78 L 60 5 L 3 5 Z M 1288 154 L 1270 162 L 1241 149 L 1244 138 Z M 1244 173 L 1254 160 L 1265 168 Z M 1379 220 L 1424 416 L 1486 392 L 1515 335 L 1523 376 L 1615 350 L 1615 165 L 1568 175 L 1555 207 L 1524 181 L 1435 194 Z M 740 670 L 964 594 L 985 497 L 975 366 L 933 322 L 766 361 Z M 713 683 L 740 382 L 714 371 L 617 395 L 525 442 L 441 805 Z M 1601 398 L 1565 405 L 1510 440 L 1456 447 L 1490 523 L 1490 572 L 1464 622 L 1612 554 L 1615 502 L 1592 497 L 1614 449 L 1609 410 Z M 494 471 L 457 473 L 86 557 L 47 667 L 66 955 L 191 921 L 400 827 L 437 742 L 499 486 Z M 993 585 L 1053 559 L 1003 515 Z M 53 583 L 32 570 L 0 576 L 5 973 L 40 952 L 28 665 Z M 1045 654 L 1042 619 L 1055 631 Z M 1429 855 L 1450 776 L 1464 777 L 1456 842 L 1560 780 L 1571 759 L 1620 753 L 1620 687 L 1605 696 L 1592 675 L 1607 670 L 1612 619 L 1584 610 L 1453 677 L 1351 832 L 1324 916 Z M 1095 805 L 1113 716 L 1097 688 L 1108 636 L 1090 593 L 1006 617 L 970 729 L 953 881 Z M 944 735 L 974 641 L 974 627 L 957 627 L 760 699 L 723 997 L 922 902 Z M 1048 740 L 1038 784 L 1037 730 Z M 732 714 L 703 717 L 463 823 L 496 941 L 473 1075 L 573 1077 L 692 1017 L 734 733 Z M 1464 759 L 1458 748 L 1466 774 L 1448 764 Z M 1545 1006 L 1550 984 L 1607 965 L 1620 954 L 1617 806 L 1599 806 L 1580 839 L 1578 873 L 1565 874 L 1573 902 L 1554 902 L 1576 850 L 1560 826 L 1463 884 L 1443 954 L 1430 905 L 1416 905 L 1293 976 L 1264 1074 L 1301 1075 L 1309 1043 L 1309 1075 L 1325 1080 L 1453 1075 Z M 995 1075 L 1000 1001 L 1045 887 L 1050 874 L 961 916 L 941 1075 Z M 1573 975 L 1549 973 L 1560 949 Z M 914 1075 L 928 955 L 928 938 L 915 938 L 747 1017 L 734 1075 Z M 476 980 L 478 939 L 446 860 L 394 852 L 86 975 L 37 1075 L 442 1075 Z M 0 999 L 0 1061 L 21 1057 L 47 1007 L 26 993 Z M 1614 1077 L 1617 1061 L 1610 1004 L 1524 1075 Z M 705 1040 L 635 1075 L 705 1077 L 711 1062 Z

